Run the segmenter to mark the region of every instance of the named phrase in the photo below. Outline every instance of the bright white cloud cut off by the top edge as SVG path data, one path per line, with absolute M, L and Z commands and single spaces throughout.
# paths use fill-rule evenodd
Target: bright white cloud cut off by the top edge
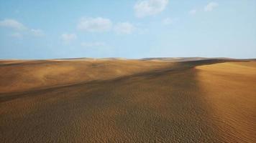
M 134 5 L 135 15 L 139 18 L 159 14 L 165 10 L 168 0 L 143 0 Z

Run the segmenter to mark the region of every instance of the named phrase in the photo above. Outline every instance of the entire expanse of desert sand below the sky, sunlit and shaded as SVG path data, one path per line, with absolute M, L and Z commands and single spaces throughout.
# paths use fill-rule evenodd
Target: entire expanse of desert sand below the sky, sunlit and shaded
M 1 142 L 256 142 L 256 61 L 0 60 Z

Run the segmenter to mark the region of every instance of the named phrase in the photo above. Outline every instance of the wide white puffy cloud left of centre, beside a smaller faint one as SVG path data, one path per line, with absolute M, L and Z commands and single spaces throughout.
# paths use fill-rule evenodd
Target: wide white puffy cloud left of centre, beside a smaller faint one
M 83 18 L 79 21 L 77 28 L 83 31 L 109 31 L 112 22 L 109 19 L 101 17 L 97 18 Z

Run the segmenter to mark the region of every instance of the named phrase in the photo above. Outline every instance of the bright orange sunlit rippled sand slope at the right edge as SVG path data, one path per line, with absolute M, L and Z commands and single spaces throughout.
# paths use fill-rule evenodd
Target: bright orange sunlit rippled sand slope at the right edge
M 226 142 L 256 142 L 256 62 L 198 66 L 199 85 Z

